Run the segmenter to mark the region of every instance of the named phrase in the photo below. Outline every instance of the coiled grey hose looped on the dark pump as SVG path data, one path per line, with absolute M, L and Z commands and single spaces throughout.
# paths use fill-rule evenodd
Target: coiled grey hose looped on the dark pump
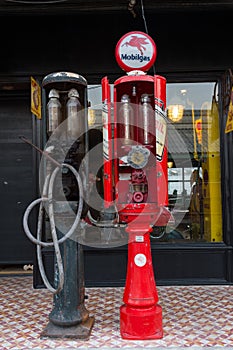
M 77 214 L 75 217 L 75 220 L 73 222 L 73 225 L 71 226 L 70 230 L 60 239 L 57 237 L 57 231 L 56 231 L 56 225 L 55 225 L 55 219 L 54 219 L 54 211 L 53 211 L 53 187 L 54 187 L 54 182 L 56 175 L 62 167 L 68 168 L 73 175 L 76 178 L 77 184 L 78 184 L 78 189 L 79 189 L 79 204 L 78 204 L 78 210 Z M 48 217 L 49 217 L 49 222 L 50 222 L 50 228 L 51 228 L 51 235 L 52 235 L 52 242 L 43 242 L 41 240 L 42 238 L 42 224 L 43 224 L 43 217 L 44 217 L 44 203 L 48 203 Z M 37 237 L 35 238 L 33 234 L 31 233 L 28 225 L 28 219 L 29 215 L 32 211 L 32 209 L 40 203 L 39 207 L 39 213 L 38 213 L 38 224 L 37 224 Z M 61 256 L 61 251 L 59 248 L 59 245 L 65 242 L 68 238 L 70 238 L 74 231 L 76 230 L 80 219 L 81 219 L 81 214 L 83 210 L 83 186 L 82 186 L 82 181 L 79 173 L 77 170 L 72 167 L 69 164 L 63 163 L 60 167 L 56 167 L 55 170 L 52 172 L 52 174 L 47 175 L 45 178 L 45 183 L 43 187 L 43 192 L 42 192 L 42 197 L 34 200 L 26 209 L 24 216 L 23 216 L 23 227 L 24 231 L 27 235 L 27 237 L 37 245 L 37 260 L 38 260 L 38 266 L 39 270 L 41 273 L 42 280 L 47 287 L 48 290 L 50 290 L 53 294 L 59 293 L 64 285 L 64 269 L 63 269 L 63 263 L 62 263 L 62 256 Z M 55 257 L 57 261 L 57 267 L 58 267 L 58 276 L 59 276 L 59 282 L 57 288 L 54 288 L 51 283 L 49 282 L 45 269 L 44 269 L 44 264 L 42 260 L 42 247 L 54 247 L 55 251 Z

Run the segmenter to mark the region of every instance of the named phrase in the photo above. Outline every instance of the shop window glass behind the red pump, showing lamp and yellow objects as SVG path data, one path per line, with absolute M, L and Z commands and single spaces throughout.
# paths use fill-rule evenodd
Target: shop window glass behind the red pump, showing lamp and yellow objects
M 113 88 L 113 86 L 111 86 Z M 175 222 L 151 237 L 221 242 L 221 167 L 216 82 L 168 83 L 168 197 Z M 89 126 L 102 130 L 101 85 L 88 87 Z

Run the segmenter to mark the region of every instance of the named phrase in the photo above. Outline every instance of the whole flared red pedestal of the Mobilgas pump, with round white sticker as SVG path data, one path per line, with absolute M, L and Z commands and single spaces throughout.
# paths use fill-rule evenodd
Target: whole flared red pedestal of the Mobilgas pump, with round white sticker
M 120 307 L 120 333 L 123 339 L 160 339 L 163 337 L 162 308 L 158 294 L 150 248 L 150 226 L 130 223 L 128 268 Z

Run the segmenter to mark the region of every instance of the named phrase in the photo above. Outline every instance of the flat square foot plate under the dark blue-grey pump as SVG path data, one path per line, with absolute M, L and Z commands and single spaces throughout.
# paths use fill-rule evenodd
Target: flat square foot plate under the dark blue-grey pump
M 89 317 L 85 322 L 68 327 L 56 326 L 54 323 L 49 322 L 45 329 L 42 331 L 40 337 L 88 340 L 91 335 L 93 324 L 94 317 Z

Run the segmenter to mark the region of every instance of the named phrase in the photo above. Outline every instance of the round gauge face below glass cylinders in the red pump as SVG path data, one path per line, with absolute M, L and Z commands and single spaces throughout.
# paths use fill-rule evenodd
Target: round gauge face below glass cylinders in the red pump
M 148 162 L 150 151 L 142 146 L 133 146 L 127 156 L 129 165 L 134 169 L 142 169 Z

